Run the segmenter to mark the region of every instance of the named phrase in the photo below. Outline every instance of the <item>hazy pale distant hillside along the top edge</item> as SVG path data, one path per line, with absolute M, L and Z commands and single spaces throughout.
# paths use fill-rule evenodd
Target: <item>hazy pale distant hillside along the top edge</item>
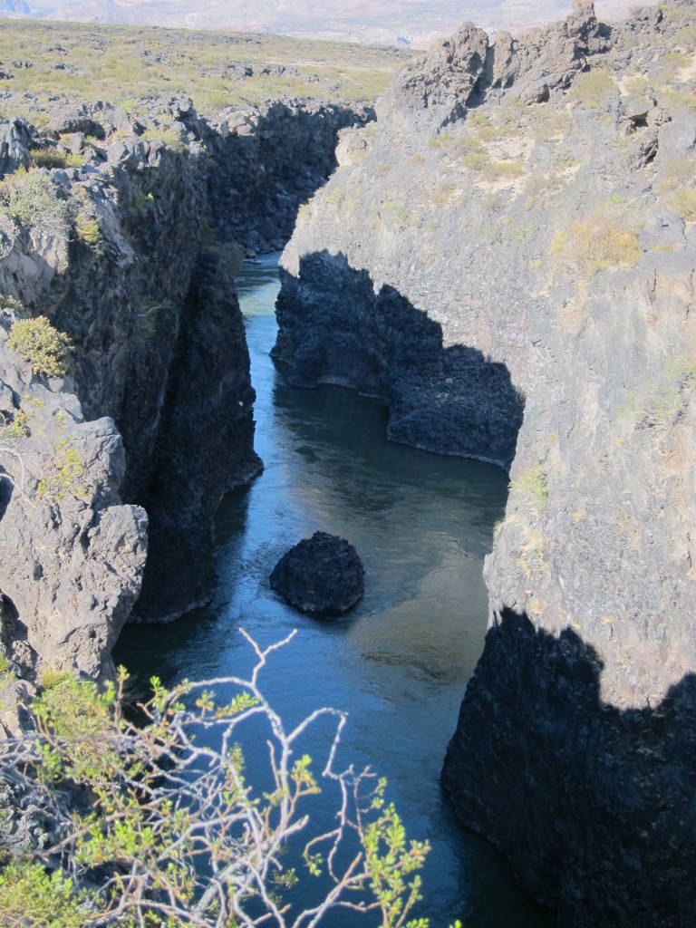
M 620 19 L 628 0 L 598 0 L 600 18 Z M 518 31 L 569 12 L 570 0 L 0 0 L 0 16 L 82 22 L 277 32 L 425 47 L 475 19 L 483 29 Z

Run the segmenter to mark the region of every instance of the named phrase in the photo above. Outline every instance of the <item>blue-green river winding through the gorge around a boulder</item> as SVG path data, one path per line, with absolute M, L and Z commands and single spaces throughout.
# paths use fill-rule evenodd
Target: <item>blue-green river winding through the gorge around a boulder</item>
M 432 844 L 417 914 L 431 928 L 455 919 L 465 928 L 546 928 L 552 914 L 522 894 L 489 844 L 458 827 L 439 786 L 483 649 L 483 557 L 508 478 L 387 442 L 384 407 L 352 391 L 285 385 L 268 356 L 277 287 L 277 255 L 247 263 L 238 280 L 264 472 L 219 509 L 213 601 L 171 625 L 127 626 L 116 660 L 169 685 L 243 675 L 253 655 L 239 626 L 262 645 L 296 628 L 262 677 L 264 693 L 288 724 L 321 705 L 348 711 L 341 757 L 386 777 L 409 837 Z M 268 583 L 281 554 L 316 530 L 346 537 L 366 570 L 364 599 L 331 623 L 294 612 Z M 308 745 L 313 756 L 321 738 Z M 261 754 L 248 762 L 251 777 Z M 327 925 L 361 923 L 351 915 Z

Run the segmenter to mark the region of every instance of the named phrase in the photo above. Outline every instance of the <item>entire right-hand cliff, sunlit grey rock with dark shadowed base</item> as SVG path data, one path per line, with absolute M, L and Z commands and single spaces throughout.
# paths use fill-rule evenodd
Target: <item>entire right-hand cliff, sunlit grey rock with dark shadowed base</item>
M 282 259 L 290 382 L 509 470 L 443 782 L 563 926 L 696 924 L 695 35 L 678 2 L 465 24 Z

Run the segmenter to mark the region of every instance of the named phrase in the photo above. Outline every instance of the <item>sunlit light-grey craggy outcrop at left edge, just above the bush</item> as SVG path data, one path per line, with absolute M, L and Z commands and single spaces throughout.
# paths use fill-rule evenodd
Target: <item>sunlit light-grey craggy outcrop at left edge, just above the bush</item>
M 33 377 L 0 318 L 0 641 L 24 676 L 50 665 L 95 677 L 140 590 L 145 511 L 122 505 L 122 440 L 85 422 L 70 383 Z

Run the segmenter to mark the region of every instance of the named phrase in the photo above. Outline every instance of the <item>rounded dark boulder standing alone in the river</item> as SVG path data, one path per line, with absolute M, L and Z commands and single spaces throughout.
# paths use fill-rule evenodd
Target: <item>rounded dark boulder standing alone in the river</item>
M 315 532 L 290 548 L 271 574 L 271 586 L 309 615 L 342 615 L 362 599 L 365 570 L 353 545 Z

